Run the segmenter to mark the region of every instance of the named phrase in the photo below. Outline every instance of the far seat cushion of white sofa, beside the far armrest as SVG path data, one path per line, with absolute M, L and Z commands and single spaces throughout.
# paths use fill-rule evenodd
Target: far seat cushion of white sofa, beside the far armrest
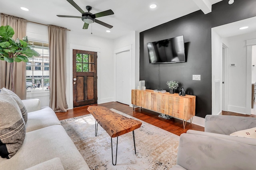
M 60 125 L 60 121 L 55 112 L 48 106 L 42 107 L 38 111 L 28 113 L 28 123 L 26 132 L 34 131 L 44 127 Z

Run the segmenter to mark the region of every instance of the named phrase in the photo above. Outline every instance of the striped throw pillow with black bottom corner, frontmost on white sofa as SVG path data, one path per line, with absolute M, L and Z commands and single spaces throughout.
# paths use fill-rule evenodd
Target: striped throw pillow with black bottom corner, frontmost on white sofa
M 0 156 L 11 158 L 22 146 L 26 125 L 16 101 L 0 90 Z

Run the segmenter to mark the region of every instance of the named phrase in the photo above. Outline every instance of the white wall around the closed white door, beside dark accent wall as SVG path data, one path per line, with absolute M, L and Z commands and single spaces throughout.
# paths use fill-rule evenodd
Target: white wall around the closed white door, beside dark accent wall
M 114 51 L 118 51 L 118 49 L 122 49 L 128 46 L 131 46 L 131 63 L 132 63 L 132 74 L 131 74 L 131 89 L 129 89 L 130 93 L 132 89 L 138 86 L 139 77 L 140 77 L 140 37 L 139 33 L 136 31 L 131 31 L 127 35 L 124 35 L 120 38 L 114 40 Z M 114 63 L 116 63 L 116 56 L 114 55 Z M 114 68 L 114 89 L 116 89 L 116 67 Z M 116 90 L 114 90 L 114 101 L 116 101 Z M 130 103 L 132 107 L 132 104 Z

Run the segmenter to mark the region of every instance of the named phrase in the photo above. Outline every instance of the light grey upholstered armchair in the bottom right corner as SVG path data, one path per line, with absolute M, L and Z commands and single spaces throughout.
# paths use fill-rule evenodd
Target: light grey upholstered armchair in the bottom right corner
M 256 139 L 230 136 L 256 127 L 256 118 L 207 115 L 205 131 L 180 135 L 177 164 L 171 170 L 254 170 Z

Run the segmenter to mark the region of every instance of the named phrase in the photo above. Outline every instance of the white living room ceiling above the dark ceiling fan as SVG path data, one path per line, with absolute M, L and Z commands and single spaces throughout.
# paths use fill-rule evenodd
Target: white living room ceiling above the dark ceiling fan
M 111 31 L 110 33 L 106 33 L 106 30 L 108 30 L 107 27 L 98 23 L 92 23 L 88 29 L 82 29 L 84 23 L 80 18 L 57 17 L 56 15 L 81 16 L 81 13 L 66 0 L 1 0 L 0 12 L 18 16 L 29 21 L 66 27 L 81 34 L 90 35 L 92 31 L 93 35 L 115 39 L 127 34 L 129 31 L 141 32 L 200 10 L 202 4 L 206 6 L 206 4 L 215 4 L 220 1 L 74 0 L 85 12 L 87 5 L 92 6 L 92 10 L 90 11 L 92 14 L 109 9 L 113 10 L 114 15 L 97 18 L 114 26 L 112 29 L 109 29 Z M 198 3 L 201 3 L 200 7 Z M 150 4 L 157 4 L 157 8 L 150 9 Z M 28 8 L 29 11 L 23 11 L 20 7 Z

